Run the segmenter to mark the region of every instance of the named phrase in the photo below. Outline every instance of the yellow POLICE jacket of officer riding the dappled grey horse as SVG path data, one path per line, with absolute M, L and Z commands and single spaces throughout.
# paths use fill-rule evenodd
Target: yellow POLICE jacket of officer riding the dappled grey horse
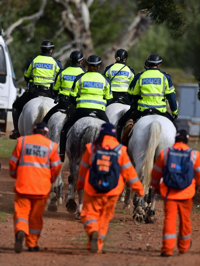
M 106 100 L 112 99 L 110 80 L 99 73 L 86 72 L 78 75 L 73 83 L 70 96 L 76 98 L 76 108 L 92 108 L 105 111 Z

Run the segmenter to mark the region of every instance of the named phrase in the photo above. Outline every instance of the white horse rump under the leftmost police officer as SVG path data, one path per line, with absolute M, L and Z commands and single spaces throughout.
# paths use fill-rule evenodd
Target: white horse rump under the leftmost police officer
M 54 100 L 48 97 L 37 97 L 27 102 L 18 121 L 20 135 L 31 135 L 33 126 L 41 122 L 54 105 Z

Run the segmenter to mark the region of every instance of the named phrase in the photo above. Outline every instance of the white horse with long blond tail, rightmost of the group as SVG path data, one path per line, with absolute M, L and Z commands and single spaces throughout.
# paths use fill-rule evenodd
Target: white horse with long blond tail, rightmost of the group
M 128 142 L 128 153 L 135 165 L 138 177 L 142 180 L 145 195 L 149 191 L 151 171 L 160 151 L 174 144 L 176 129 L 168 118 L 161 115 L 147 115 L 140 118 L 134 125 L 133 134 Z M 130 187 L 127 186 L 125 207 L 130 205 Z M 134 204 L 135 205 L 135 204 Z M 141 213 L 140 213 L 141 214 Z M 134 221 L 140 224 L 140 214 Z M 155 193 L 151 191 L 151 205 L 148 208 L 146 222 L 155 221 Z

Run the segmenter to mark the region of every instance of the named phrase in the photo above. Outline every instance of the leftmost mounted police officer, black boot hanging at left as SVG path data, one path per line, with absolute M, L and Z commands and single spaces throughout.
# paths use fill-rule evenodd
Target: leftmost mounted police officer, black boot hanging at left
M 18 130 L 18 120 L 25 104 L 32 98 L 37 97 L 36 94 L 42 96 L 53 96 L 53 83 L 56 74 L 62 68 L 61 62 L 51 56 L 54 44 L 50 40 L 43 40 L 41 43 L 42 53 L 39 56 L 30 59 L 27 64 L 24 79 L 29 83 L 28 90 L 22 94 L 13 103 L 12 116 L 14 130 L 10 133 L 10 139 L 20 137 Z

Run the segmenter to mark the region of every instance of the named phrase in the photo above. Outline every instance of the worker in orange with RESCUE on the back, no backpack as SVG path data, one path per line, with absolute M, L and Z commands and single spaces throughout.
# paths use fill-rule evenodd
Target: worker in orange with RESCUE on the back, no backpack
M 42 214 L 61 169 L 57 144 L 47 138 L 45 123 L 34 126 L 34 135 L 18 138 L 10 157 L 10 175 L 16 179 L 14 192 L 14 233 L 16 253 L 22 251 L 26 235 L 29 251 L 39 251 L 38 238 L 42 230 Z

